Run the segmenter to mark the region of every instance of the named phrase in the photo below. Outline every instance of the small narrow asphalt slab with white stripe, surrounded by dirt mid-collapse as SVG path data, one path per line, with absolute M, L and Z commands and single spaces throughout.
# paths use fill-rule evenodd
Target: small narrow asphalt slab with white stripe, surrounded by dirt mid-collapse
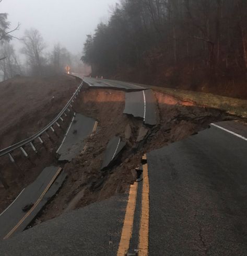
M 116 156 L 125 147 L 126 143 L 121 142 L 120 137 L 113 137 L 107 144 L 107 149 L 104 153 L 103 163 L 101 165 L 101 170 L 107 168 L 111 162 L 116 158 Z

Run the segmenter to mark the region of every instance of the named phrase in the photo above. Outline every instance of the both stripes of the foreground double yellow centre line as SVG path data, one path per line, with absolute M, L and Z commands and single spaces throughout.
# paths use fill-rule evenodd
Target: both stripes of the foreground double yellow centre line
M 143 157 L 147 159 L 146 155 Z M 117 256 L 125 256 L 128 253 L 130 247 L 130 240 L 132 237 L 134 214 L 136 206 L 138 183 L 135 182 L 130 187 L 130 194 L 128 196 L 128 203 L 126 207 L 126 213 L 124 218 L 124 224 L 122 229 L 121 240 Z M 148 179 L 148 166 L 143 165 L 143 189 L 142 189 L 142 214 L 140 216 L 139 227 L 139 243 L 138 243 L 138 255 L 148 255 L 148 234 L 149 234 L 149 179 Z

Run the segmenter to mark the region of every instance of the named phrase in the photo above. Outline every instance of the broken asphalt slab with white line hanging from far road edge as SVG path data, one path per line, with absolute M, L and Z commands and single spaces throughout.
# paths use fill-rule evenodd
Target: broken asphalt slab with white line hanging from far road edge
M 124 114 L 142 118 L 147 125 L 157 124 L 157 102 L 152 90 L 125 92 Z

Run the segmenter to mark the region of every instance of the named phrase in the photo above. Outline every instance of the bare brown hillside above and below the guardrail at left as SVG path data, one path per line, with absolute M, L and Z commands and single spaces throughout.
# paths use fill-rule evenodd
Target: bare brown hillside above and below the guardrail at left
M 17 77 L 0 83 L 0 148 L 19 142 L 48 124 L 62 110 L 78 85 L 75 78 L 65 75 L 43 79 Z M 56 163 L 55 152 L 70 120 L 68 115 L 61 123 L 62 129 L 55 127 L 55 133 L 49 132 L 52 140 L 43 135 L 44 146 L 38 141 L 33 143 L 38 155 L 31 147 L 25 147 L 30 160 L 20 150 L 13 153 L 17 165 L 11 164 L 8 156 L 0 158 L 0 174 L 9 185 L 5 190 L 0 182 L 0 212 L 39 176 L 44 167 Z

